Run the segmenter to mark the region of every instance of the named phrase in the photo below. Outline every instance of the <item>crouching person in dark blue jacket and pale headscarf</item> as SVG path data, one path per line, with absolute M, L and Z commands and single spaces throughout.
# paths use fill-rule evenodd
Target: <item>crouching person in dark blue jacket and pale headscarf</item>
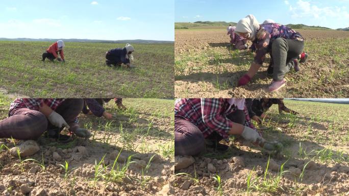
M 127 65 L 128 68 L 134 68 L 135 66 L 131 64 L 130 60 L 133 60 L 132 52 L 135 48 L 127 43 L 123 48 L 114 48 L 106 53 L 106 64 L 111 67 L 111 65 L 121 66 L 121 64 Z

